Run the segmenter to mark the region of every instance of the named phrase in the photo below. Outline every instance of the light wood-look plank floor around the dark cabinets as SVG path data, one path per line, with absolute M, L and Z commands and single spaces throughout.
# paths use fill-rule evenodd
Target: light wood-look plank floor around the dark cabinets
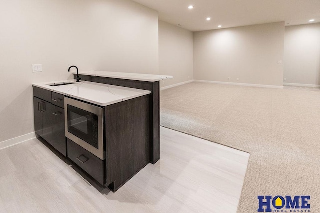
M 0 150 L 0 212 L 235 213 L 248 158 L 161 127 L 161 159 L 113 193 L 33 139 Z

